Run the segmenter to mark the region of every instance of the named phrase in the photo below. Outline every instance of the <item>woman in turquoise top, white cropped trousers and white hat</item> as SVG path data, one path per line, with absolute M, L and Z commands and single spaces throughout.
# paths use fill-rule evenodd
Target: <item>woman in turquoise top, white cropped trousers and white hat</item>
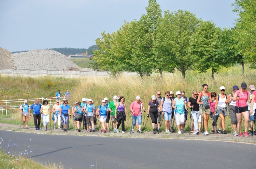
M 184 109 L 185 107 L 185 109 Z M 176 98 L 172 101 L 172 108 L 175 111 L 175 120 L 178 128 L 178 134 L 182 134 L 180 126 L 184 124 L 185 121 L 185 110 L 187 111 L 187 104 L 183 97 L 181 97 L 181 92 L 176 92 Z

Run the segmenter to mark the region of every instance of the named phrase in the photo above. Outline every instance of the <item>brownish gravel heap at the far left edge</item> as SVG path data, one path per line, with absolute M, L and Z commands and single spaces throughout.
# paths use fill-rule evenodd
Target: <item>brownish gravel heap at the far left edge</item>
M 0 69 L 14 69 L 12 53 L 0 47 Z

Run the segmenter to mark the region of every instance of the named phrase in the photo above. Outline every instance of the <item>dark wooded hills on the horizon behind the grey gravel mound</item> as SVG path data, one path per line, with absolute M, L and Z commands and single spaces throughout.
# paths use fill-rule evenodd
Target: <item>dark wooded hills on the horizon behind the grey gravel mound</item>
M 79 53 L 85 53 L 87 51 L 88 55 L 92 55 L 94 50 L 98 50 L 96 48 L 96 45 L 90 46 L 88 49 L 85 48 L 52 48 L 51 50 L 54 50 L 56 52 L 59 52 L 63 55 L 75 55 Z M 20 53 L 20 52 L 28 52 L 28 51 L 17 51 L 12 53 Z

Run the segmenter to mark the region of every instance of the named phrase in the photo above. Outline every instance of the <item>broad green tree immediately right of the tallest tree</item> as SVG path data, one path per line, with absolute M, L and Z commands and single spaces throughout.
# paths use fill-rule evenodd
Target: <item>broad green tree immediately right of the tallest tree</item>
M 175 67 L 182 73 L 185 80 L 185 73 L 192 68 L 195 58 L 189 53 L 190 37 L 195 33 L 196 27 L 201 19 L 189 11 L 178 10 L 170 13 L 164 12 L 164 19 L 158 31 L 158 43 L 156 53 L 168 60 L 169 69 Z M 163 65 L 166 68 L 166 65 Z

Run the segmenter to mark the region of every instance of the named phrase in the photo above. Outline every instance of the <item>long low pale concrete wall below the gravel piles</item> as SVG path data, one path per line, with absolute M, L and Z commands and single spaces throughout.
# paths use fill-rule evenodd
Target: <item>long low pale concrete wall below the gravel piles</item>
M 28 76 L 28 77 L 40 77 L 40 76 L 54 76 L 54 77 L 88 77 L 99 76 L 109 77 L 110 72 L 104 71 L 64 71 L 64 70 L 12 70 L 12 69 L 0 69 L 1 76 Z M 136 72 L 124 72 L 127 76 L 137 76 Z

